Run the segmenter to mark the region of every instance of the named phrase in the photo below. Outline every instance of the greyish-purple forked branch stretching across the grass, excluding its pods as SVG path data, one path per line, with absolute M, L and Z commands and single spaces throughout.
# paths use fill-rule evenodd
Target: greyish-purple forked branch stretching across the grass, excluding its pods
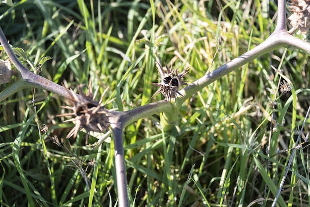
M 293 37 L 287 32 L 285 28 L 285 3 L 285 0 L 278 0 L 278 22 L 275 31 L 270 35 L 270 37 L 268 37 L 256 48 L 231 60 L 230 62 L 222 65 L 221 67 L 196 80 L 194 83 L 190 84 L 183 90 L 178 91 L 178 93 L 180 93 L 182 96 L 174 97 L 175 99 L 170 99 L 168 101 L 163 100 L 147 104 L 124 112 L 111 111 L 112 115 L 109 116 L 109 123 L 113 131 L 113 140 L 115 146 L 115 168 L 117 175 L 116 182 L 118 189 L 118 205 L 120 207 L 129 207 L 127 195 L 126 168 L 123 150 L 123 130 L 127 125 L 138 119 L 153 114 L 163 113 L 161 125 L 165 130 L 169 130 L 177 121 L 177 116 L 175 114 L 181 107 L 181 104 L 185 102 L 185 100 L 189 99 L 198 91 L 205 88 L 207 85 L 214 82 L 215 80 L 218 80 L 219 78 L 228 74 L 229 72 L 240 68 L 241 66 L 249 63 L 250 61 L 258 58 L 263 54 L 277 50 L 280 47 L 286 45 L 295 46 L 310 53 L 310 43 Z M 45 89 L 67 99 L 72 98 L 72 96 L 78 97 L 80 99 L 79 95 L 72 95 L 70 93 L 73 92 L 68 93 L 68 90 L 64 87 L 55 84 L 44 77 L 36 75 L 29 71 L 27 68 L 25 68 L 22 63 L 17 59 L 16 55 L 13 53 L 1 29 L 0 43 L 2 44 L 5 52 L 18 70 L 17 80 L 15 81 L 15 83 L 11 84 L 0 93 L 0 101 L 4 100 L 13 93 L 25 88 Z

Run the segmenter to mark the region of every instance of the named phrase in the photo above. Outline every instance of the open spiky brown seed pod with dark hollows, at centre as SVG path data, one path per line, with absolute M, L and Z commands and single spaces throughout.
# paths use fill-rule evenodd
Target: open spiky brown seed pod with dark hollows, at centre
M 186 81 L 182 81 L 182 78 L 188 73 L 189 68 L 178 74 L 178 69 L 172 70 L 172 66 L 169 68 L 165 62 L 164 64 L 167 72 L 165 72 L 161 64 L 157 62 L 157 71 L 161 79 L 159 79 L 160 83 L 151 83 L 154 86 L 159 86 L 159 89 L 153 94 L 152 98 L 161 93 L 167 101 L 171 101 L 171 98 L 176 99 L 177 95 L 182 96 L 179 92 L 179 88 L 185 84 Z

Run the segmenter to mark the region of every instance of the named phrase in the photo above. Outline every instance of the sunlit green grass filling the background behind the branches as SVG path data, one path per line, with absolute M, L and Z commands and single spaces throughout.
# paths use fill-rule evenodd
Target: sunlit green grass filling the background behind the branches
M 149 83 L 159 78 L 155 57 L 181 71 L 190 67 L 190 84 L 257 46 L 275 28 L 273 0 L 155 1 L 155 14 L 150 2 L 14 1 L 14 7 L 0 4 L 0 26 L 35 67 L 52 57 L 40 75 L 75 92 L 90 80 L 100 94 L 109 87 L 105 103 L 115 99 L 107 107 L 120 111 L 162 99 L 151 99 L 156 88 Z M 219 34 L 224 43 L 215 55 Z M 308 59 L 293 48 L 256 59 L 186 101 L 171 132 L 161 133 L 159 114 L 128 126 L 131 205 L 270 206 L 292 152 L 277 151 L 295 145 L 310 105 Z M 296 100 L 291 93 L 281 96 L 279 71 L 291 81 Z M 61 108 L 66 104 L 47 91 L 28 89 L 0 103 L 1 206 L 117 205 L 113 142 L 85 146 L 84 132 L 66 139 L 73 124 L 57 117 L 67 112 Z M 47 125 L 49 136 L 36 120 Z M 62 147 L 52 141 L 55 135 Z M 89 143 L 96 141 L 91 137 Z M 266 156 L 268 145 L 272 158 Z M 309 205 L 309 147 L 302 147 L 279 206 Z M 94 162 L 101 163 L 98 174 Z M 90 189 L 92 182 L 96 189 Z

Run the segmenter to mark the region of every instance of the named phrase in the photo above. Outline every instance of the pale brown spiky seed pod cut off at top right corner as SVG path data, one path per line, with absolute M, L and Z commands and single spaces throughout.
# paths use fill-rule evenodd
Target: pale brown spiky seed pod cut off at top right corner
M 307 34 L 310 28 L 310 0 L 291 0 L 290 10 L 293 14 L 288 18 L 294 28 L 298 28 L 302 34 Z

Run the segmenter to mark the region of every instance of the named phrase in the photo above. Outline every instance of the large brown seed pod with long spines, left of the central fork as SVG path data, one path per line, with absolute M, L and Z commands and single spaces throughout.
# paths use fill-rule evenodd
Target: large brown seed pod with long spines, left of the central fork
M 103 96 L 107 89 L 103 92 L 99 101 L 95 101 L 96 95 L 98 93 L 98 89 L 96 89 L 93 94 L 93 89 L 91 86 L 91 82 L 88 86 L 87 93 L 83 92 L 83 86 L 78 87 L 78 92 L 80 94 L 80 98 L 78 98 L 75 93 L 70 89 L 70 101 L 73 106 L 62 106 L 63 108 L 72 110 L 71 113 L 60 114 L 58 116 L 72 116 L 73 118 L 68 119 L 64 122 L 73 121 L 75 122 L 75 127 L 68 133 L 67 138 L 73 137 L 75 138 L 80 129 L 86 130 L 86 144 L 88 144 L 88 134 L 89 132 L 104 132 L 108 130 L 110 125 L 109 116 L 112 114 L 111 111 L 115 109 L 106 109 L 105 105 L 101 105 L 103 102 Z M 107 103 L 108 104 L 108 103 Z

